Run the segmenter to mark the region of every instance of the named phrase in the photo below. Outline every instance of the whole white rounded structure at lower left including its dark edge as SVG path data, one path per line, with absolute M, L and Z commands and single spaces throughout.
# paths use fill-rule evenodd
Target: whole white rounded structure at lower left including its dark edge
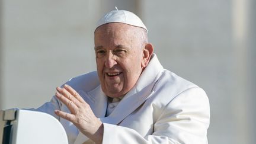
M 55 117 L 37 111 L 12 109 L 0 111 L 0 143 L 68 144 L 68 137 Z

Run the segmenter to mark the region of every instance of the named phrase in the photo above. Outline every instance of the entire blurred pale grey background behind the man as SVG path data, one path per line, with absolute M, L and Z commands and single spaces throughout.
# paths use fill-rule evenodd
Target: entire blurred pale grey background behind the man
M 0 108 L 39 107 L 94 71 L 94 24 L 115 6 L 142 18 L 165 68 L 207 92 L 209 143 L 256 143 L 255 0 L 0 0 Z

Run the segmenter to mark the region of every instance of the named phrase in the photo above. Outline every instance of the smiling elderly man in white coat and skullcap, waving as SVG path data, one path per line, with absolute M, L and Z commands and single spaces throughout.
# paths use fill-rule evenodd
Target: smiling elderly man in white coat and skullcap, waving
M 207 95 L 162 68 L 147 34 L 129 11 L 100 19 L 97 71 L 57 87 L 52 100 L 37 108 L 63 124 L 69 143 L 207 143 Z

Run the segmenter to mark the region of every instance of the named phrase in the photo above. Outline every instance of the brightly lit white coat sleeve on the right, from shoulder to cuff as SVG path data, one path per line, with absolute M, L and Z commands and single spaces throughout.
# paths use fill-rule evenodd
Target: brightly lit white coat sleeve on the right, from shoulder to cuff
M 140 136 L 133 129 L 104 123 L 103 144 L 190 143 L 207 144 L 210 121 L 209 100 L 201 88 L 177 95 L 153 124 L 153 133 Z

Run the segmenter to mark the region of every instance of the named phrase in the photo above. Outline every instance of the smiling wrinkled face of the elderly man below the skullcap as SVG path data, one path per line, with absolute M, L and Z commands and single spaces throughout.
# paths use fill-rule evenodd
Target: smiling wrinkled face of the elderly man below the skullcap
M 138 30 L 132 25 L 109 23 L 95 31 L 97 71 L 108 97 L 125 95 L 142 73 L 143 42 Z

